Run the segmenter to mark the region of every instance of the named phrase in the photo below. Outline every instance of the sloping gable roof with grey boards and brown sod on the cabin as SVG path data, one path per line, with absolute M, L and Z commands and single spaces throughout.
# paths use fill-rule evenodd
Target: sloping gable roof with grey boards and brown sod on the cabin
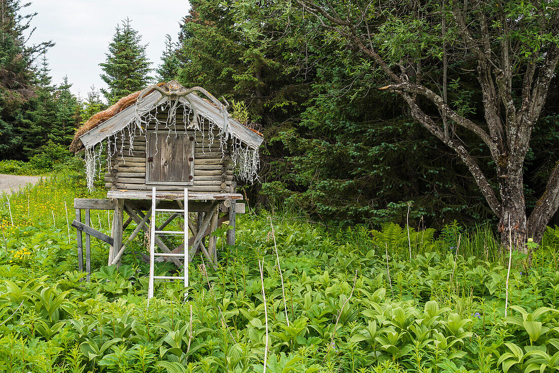
M 167 85 L 168 84 L 169 83 L 167 83 Z M 163 83 L 158 84 L 159 87 L 167 85 L 163 85 Z M 186 91 L 182 85 L 181 90 L 183 90 L 183 92 Z M 70 151 L 78 151 L 82 147 L 89 148 L 95 146 L 108 136 L 119 132 L 121 129 L 129 125 L 132 120 L 134 120 L 138 111 L 145 113 L 146 111 L 153 109 L 154 104 L 162 96 L 158 91 L 155 91 L 154 88 L 151 93 L 144 96 L 144 98 L 139 102 L 140 107 L 136 108 L 140 92 L 141 91 L 134 92 L 126 97 L 122 97 L 122 99 L 120 99 L 115 105 L 112 105 L 110 108 L 92 116 L 92 118 L 84 123 L 83 126 L 76 132 L 72 144 L 70 144 Z M 215 125 L 217 125 L 220 129 L 225 129 L 226 124 L 223 114 L 216 108 L 216 106 L 212 105 L 211 102 L 202 99 L 202 97 L 196 95 L 194 92 L 188 94 L 187 97 L 192 104 L 196 106 L 196 110 L 199 114 L 212 119 Z M 159 101 L 159 104 L 163 104 L 168 100 L 169 97 L 163 97 L 163 99 Z M 183 104 L 190 105 L 188 100 L 183 96 L 179 97 L 178 100 Z M 227 130 L 230 136 L 240 139 L 240 141 L 254 149 L 257 149 L 260 144 L 262 144 L 264 137 L 257 130 L 247 128 L 237 120 L 230 117 L 228 122 L 229 125 Z

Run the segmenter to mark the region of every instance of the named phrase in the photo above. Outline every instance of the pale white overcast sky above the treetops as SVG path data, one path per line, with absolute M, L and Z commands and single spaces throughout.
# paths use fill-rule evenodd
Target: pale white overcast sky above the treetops
M 105 62 L 117 24 L 130 18 L 142 44 L 148 44 L 146 57 L 155 68 L 161 62 L 165 35 L 177 41 L 178 24 L 189 10 L 187 0 L 33 0 L 23 11 L 38 13 L 32 21 L 36 30 L 30 42 L 56 43 L 46 54 L 53 83 L 60 84 L 67 75 L 73 93 L 79 92 L 83 98 L 92 85 L 96 90 L 106 88 L 99 77 L 99 64 Z

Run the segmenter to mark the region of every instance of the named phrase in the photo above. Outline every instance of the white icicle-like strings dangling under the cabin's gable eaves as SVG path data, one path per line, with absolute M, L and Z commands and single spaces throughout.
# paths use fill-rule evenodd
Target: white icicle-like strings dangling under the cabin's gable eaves
M 201 148 L 202 152 L 221 151 L 221 160 L 226 156 L 230 156 L 235 172 L 240 180 L 254 183 L 258 179 L 258 148 L 243 142 L 230 129 L 228 105 L 221 104 L 214 96 L 211 96 L 199 87 L 191 88 L 191 90 L 186 92 L 178 92 L 179 88 L 173 85 L 168 87 L 169 91 L 163 91 L 158 86 L 155 87 L 157 91 L 163 92 L 155 104 L 143 106 L 145 92 L 148 92 L 149 89 L 154 89 L 154 86 L 150 86 L 138 96 L 133 118 L 129 120 L 124 128 L 115 130 L 105 137 L 106 146 L 103 146 L 101 142 L 97 146 L 86 148 L 86 175 L 89 190 L 93 190 L 93 181 L 96 175 L 101 174 L 103 150 L 106 151 L 109 170 L 112 167 L 111 158 L 120 157 L 124 164 L 126 164 L 125 156 L 131 156 L 134 151 L 134 138 L 136 136 L 146 136 L 148 126 L 157 129 L 155 131 L 156 137 L 176 136 L 179 133 L 183 133 L 184 130 L 193 131 L 195 143 Z M 217 125 L 210 116 L 196 110 L 196 106 L 187 97 L 187 94 L 192 91 L 199 91 L 210 98 L 207 101 L 211 101 L 220 110 L 223 118 L 221 125 Z M 184 97 L 186 102 L 179 100 L 179 97 Z M 178 126 L 179 129 L 177 129 L 177 118 L 179 118 L 179 123 L 181 123 Z M 182 127 L 182 123 L 184 123 L 185 127 Z M 167 134 L 164 134 L 164 131 Z M 125 143 L 129 143 L 126 150 Z M 155 151 L 157 152 L 158 150 L 156 149 Z M 147 157 L 147 147 L 145 152 Z

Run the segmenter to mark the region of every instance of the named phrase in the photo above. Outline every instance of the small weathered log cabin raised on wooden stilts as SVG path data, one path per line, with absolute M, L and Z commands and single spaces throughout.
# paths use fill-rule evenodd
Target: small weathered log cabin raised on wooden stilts
M 93 235 L 110 244 L 108 264 L 118 264 L 126 252 L 124 228 L 136 223 L 131 239 L 140 230 L 148 232 L 149 215 L 157 204 L 157 208 L 186 208 L 189 216 L 196 212 L 197 218 L 188 221 L 192 235 L 188 258 L 201 252 L 216 263 L 211 232 L 229 221 L 228 244 L 234 244 L 235 214 L 244 212 L 244 205 L 235 202 L 243 197 L 236 193 L 236 181 L 257 178 L 258 147 L 263 141 L 262 134 L 231 118 L 227 109 L 227 104 L 202 88 L 187 90 L 171 81 L 124 97 L 88 120 L 76 133 L 70 150 L 85 149 L 88 186 L 93 188 L 94 178 L 104 174 L 107 198 L 74 201 L 78 250 L 83 232 L 88 258 L 88 239 Z M 105 158 L 107 166 L 101 171 Z M 96 208 L 115 211 L 110 237 L 89 227 L 89 209 Z M 86 211 L 85 222 L 82 211 Z M 158 229 L 180 215 L 171 215 Z M 207 248 L 205 236 L 210 236 Z M 158 237 L 154 241 L 167 253 L 179 253 L 184 246 L 170 248 Z M 178 264 L 174 258 L 168 260 Z

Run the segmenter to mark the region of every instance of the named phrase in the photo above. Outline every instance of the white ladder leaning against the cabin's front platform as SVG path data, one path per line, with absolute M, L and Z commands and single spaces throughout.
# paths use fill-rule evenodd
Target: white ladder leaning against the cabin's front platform
M 184 260 L 183 270 L 184 270 L 184 287 L 188 287 L 188 189 L 184 188 L 184 204 L 182 209 L 169 209 L 169 208 L 159 208 L 157 207 L 157 198 L 155 198 L 155 186 L 151 189 L 151 227 L 150 227 L 150 240 L 149 240 L 149 288 L 148 288 L 148 300 L 153 297 L 154 281 L 174 281 L 180 279 L 181 277 L 175 276 L 155 276 L 155 258 L 173 258 L 178 257 Z M 184 213 L 184 230 L 183 231 L 160 231 L 156 230 L 155 217 L 157 212 L 162 213 Z M 184 236 L 184 253 L 174 254 L 174 253 L 155 253 L 155 235 L 182 235 Z M 184 297 L 187 293 L 184 294 Z

